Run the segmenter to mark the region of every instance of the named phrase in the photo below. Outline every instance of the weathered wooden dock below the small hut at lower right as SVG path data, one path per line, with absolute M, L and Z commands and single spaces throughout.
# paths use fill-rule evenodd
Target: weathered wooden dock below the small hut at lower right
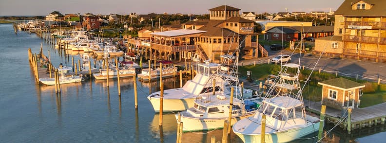
M 320 114 L 321 102 L 304 101 L 305 106 L 308 106 L 308 110 L 314 113 Z M 371 127 L 373 125 L 384 125 L 386 118 L 386 103 L 377 104 L 364 108 L 352 108 L 351 112 L 351 129 L 362 129 L 363 127 Z M 345 111 L 327 107 L 326 117 L 330 122 L 337 122 L 342 118 Z M 347 114 L 347 113 L 346 113 Z M 343 129 L 347 129 L 347 119 L 339 125 Z

